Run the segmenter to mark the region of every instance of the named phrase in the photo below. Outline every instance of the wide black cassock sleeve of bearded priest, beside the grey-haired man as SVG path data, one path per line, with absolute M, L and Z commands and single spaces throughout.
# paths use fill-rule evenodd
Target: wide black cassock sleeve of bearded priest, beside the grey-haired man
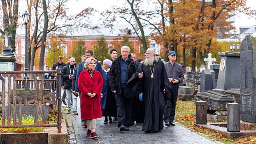
M 139 73 L 143 72 L 143 64 L 140 64 L 137 72 L 133 74 L 133 76 L 128 80 L 125 88 L 125 95 L 128 98 L 134 97 L 136 95 L 139 95 L 143 91 L 143 77 L 139 78 Z

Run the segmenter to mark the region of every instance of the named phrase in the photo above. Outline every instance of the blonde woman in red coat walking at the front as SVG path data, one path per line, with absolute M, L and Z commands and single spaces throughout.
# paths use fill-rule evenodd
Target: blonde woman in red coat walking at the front
M 82 71 L 78 78 L 78 87 L 81 91 L 81 119 L 85 119 L 88 131 L 86 137 L 97 139 L 96 118 L 102 117 L 100 107 L 100 92 L 102 90 L 102 77 L 95 70 L 96 60 L 87 58 L 84 64 L 86 70 Z

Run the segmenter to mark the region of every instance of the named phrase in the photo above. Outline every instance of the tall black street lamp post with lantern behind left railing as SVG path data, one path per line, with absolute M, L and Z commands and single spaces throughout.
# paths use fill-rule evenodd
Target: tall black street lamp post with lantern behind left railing
M 22 14 L 23 22 L 25 23 L 25 70 L 28 70 L 28 37 L 27 37 L 27 24 L 30 18 L 30 14 L 28 12 L 24 12 Z M 25 74 L 25 77 L 23 79 L 29 79 L 27 74 Z

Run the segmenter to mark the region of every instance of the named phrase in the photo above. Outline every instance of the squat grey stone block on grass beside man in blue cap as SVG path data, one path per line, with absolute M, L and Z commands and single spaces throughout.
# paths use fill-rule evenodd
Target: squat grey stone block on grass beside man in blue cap
M 189 86 L 179 86 L 178 98 L 182 101 L 192 100 L 194 98 L 192 88 Z

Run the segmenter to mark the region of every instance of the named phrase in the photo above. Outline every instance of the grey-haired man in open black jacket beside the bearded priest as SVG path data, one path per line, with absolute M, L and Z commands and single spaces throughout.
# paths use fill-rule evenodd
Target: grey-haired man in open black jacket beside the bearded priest
M 124 95 L 127 81 L 135 73 L 135 63 L 129 57 L 130 48 L 121 47 L 121 56 L 113 61 L 109 73 L 109 84 L 111 91 L 115 93 L 117 105 L 118 127 L 120 131 L 128 131 L 127 126 L 131 125 L 132 119 L 129 118 L 130 99 Z

